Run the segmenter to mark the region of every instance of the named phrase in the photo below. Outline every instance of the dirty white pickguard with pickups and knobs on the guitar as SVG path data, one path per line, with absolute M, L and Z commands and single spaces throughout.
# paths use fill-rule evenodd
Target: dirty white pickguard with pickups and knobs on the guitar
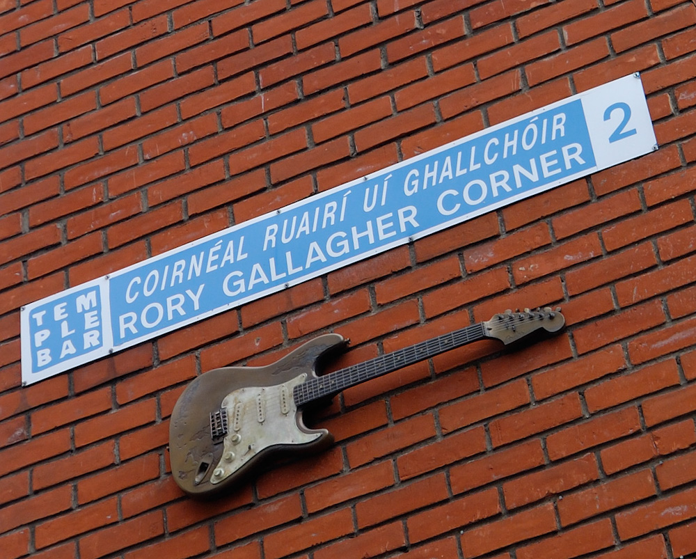
M 228 433 L 211 484 L 239 471 L 266 448 L 311 443 L 322 436 L 323 432 L 305 432 L 297 424 L 292 389 L 306 378 L 304 373 L 276 386 L 246 386 L 225 397 L 222 407 L 227 411 Z

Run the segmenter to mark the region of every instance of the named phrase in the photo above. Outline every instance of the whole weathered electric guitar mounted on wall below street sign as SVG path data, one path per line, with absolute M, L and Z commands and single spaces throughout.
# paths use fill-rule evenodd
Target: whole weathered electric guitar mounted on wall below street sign
M 264 367 L 223 367 L 191 381 L 172 411 L 169 452 L 174 480 L 192 496 L 229 489 L 278 454 L 320 450 L 333 442 L 326 429 L 310 429 L 302 409 L 345 388 L 424 361 L 462 345 L 497 339 L 506 345 L 565 323 L 551 308 L 495 315 L 432 340 L 358 365 L 317 376 L 317 363 L 348 340 L 328 333 Z

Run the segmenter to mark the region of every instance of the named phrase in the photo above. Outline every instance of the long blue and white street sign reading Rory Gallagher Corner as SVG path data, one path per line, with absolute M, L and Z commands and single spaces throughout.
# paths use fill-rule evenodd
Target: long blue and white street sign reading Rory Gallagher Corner
M 637 74 L 22 309 L 45 379 L 656 149 Z

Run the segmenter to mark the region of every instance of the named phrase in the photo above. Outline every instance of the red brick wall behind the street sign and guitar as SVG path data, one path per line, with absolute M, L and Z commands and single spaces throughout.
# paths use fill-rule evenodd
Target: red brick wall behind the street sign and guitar
M 696 553 L 695 24 L 680 0 L 0 0 L 3 559 Z M 23 304 L 631 72 L 657 152 L 20 386 Z M 551 340 L 346 391 L 320 455 L 207 503 L 171 479 L 201 372 L 547 304 Z

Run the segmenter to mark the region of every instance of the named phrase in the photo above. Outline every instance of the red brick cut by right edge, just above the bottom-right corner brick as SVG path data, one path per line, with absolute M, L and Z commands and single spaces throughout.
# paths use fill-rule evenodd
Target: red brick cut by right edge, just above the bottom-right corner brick
M 622 540 L 671 526 L 696 516 L 696 488 L 672 493 L 657 501 L 616 514 L 616 526 Z

